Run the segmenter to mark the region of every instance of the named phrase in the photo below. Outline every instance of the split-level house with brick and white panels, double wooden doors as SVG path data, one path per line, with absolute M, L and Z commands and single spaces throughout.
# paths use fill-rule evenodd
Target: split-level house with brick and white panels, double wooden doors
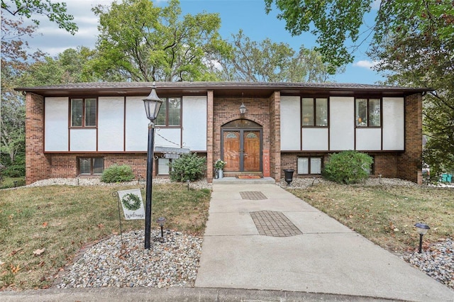
M 26 94 L 26 183 L 96 177 L 128 164 L 145 178 L 150 82 L 20 87 Z M 184 147 L 224 176 L 316 177 L 334 152 L 374 158 L 371 174 L 421 183 L 422 96 L 428 89 L 366 84 L 157 82 L 155 177 Z M 242 106 L 244 105 L 244 106 Z M 240 106 L 245 109 L 241 113 Z M 245 107 L 245 108 L 244 108 Z M 164 147 L 164 148 L 162 148 Z M 168 148 L 167 148 L 168 147 Z M 161 151 L 158 151 L 161 150 Z M 165 151 L 162 151 L 165 150 Z M 162 153 L 165 152 L 165 153 Z M 174 152 L 175 153 L 175 152 Z

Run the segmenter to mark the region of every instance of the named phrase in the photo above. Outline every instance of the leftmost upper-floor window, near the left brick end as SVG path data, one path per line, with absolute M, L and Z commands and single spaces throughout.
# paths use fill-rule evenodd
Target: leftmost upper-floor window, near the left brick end
M 96 127 L 96 99 L 71 99 L 71 127 Z

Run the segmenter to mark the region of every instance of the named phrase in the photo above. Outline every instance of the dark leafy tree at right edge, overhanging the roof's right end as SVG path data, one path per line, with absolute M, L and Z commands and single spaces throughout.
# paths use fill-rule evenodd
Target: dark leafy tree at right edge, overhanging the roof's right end
M 413 16 L 413 18 L 409 18 Z M 454 171 L 454 4 L 383 4 L 370 56 L 388 72 L 387 83 L 431 87 L 424 98 L 423 159 L 431 174 Z M 387 22 L 389 18 L 393 23 Z M 437 177 L 438 178 L 438 177 Z

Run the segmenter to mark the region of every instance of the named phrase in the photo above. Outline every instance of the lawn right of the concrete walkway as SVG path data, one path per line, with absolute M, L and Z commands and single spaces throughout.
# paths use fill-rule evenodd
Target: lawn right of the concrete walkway
M 324 182 L 289 189 L 312 206 L 391 252 L 414 252 L 414 224 L 431 227 L 424 245 L 454 234 L 454 190 L 427 186 L 348 186 Z

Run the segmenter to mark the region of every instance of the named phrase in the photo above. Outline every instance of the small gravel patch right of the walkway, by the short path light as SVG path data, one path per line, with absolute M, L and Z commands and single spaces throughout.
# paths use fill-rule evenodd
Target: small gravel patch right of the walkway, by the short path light
M 402 258 L 428 276 L 454 289 L 454 242 L 448 238 L 428 250 L 403 255 Z

